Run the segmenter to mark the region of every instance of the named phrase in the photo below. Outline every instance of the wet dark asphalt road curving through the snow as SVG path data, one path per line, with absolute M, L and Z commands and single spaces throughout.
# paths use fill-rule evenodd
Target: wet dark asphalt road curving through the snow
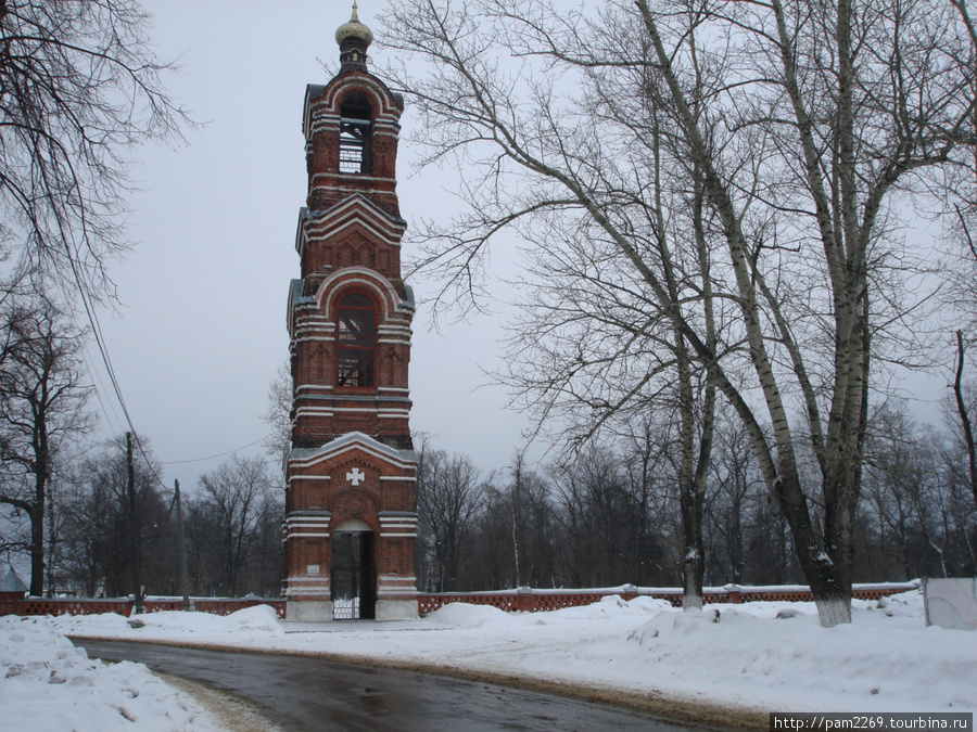
M 90 657 L 136 660 L 258 707 L 283 730 L 661 730 L 687 728 L 560 696 L 318 658 L 88 641 Z

